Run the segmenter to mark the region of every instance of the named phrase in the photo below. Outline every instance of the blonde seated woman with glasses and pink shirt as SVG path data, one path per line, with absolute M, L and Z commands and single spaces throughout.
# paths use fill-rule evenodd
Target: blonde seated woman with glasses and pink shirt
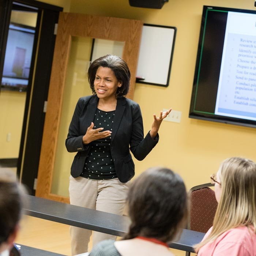
M 197 255 L 256 256 L 256 163 L 228 158 L 211 179 L 218 207 Z

